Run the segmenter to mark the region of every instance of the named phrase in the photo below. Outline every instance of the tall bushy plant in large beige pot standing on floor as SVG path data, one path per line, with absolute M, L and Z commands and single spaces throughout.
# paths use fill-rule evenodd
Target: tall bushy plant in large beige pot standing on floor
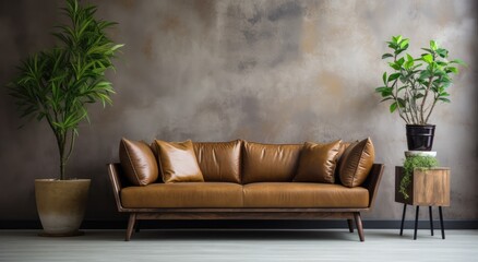
M 47 236 L 79 235 L 89 179 L 68 179 L 67 163 L 79 135 L 79 123 L 88 120 L 87 105 L 111 103 L 113 88 L 105 72 L 122 45 L 106 34 L 112 22 L 96 20 L 96 7 L 68 0 L 64 14 L 70 24 L 52 35 L 59 45 L 29 56 L 9 83 L 22 117 L 45 120 L 55 134 L 60 172 L 57 179 L 36 179 L 38 215 Z

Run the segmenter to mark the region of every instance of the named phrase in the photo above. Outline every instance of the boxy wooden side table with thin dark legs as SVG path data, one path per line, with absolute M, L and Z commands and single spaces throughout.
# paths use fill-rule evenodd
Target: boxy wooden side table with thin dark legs
M 408 199 L 398 192 L 402 177 L 404 176 L 404 168 L 395 167 L 395 202 L 404 204 L 404 212 L 402 215 L 401 236 L 404 231 L 405 214 L 408 205 L 416 205 L 415 214 L 415 233 L 414 240 L 417 239 L 418 214 L 420 205 L 428 206 L 430 213 L 430 231 L 433 236 L 433 217 L 431 213 L 432 206 L 439 207 L 440 227 L 442 231 L 442 239 L 445 239 L 445 229 L 443 227 L 442 206 L 450 206 L 450 168 L 439 167 L 428 170 L 416 169 L 411 175 L 410 186 L 407 188 Z

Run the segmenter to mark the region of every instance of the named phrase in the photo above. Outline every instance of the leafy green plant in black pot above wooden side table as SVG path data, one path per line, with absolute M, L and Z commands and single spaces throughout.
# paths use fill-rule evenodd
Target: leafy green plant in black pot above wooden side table
M 391 52 L 382 56 L 390 59 L 391 73 L 383 73 L 383 86 L 375 92 L 382 102 L 391 102 L 390 111 L 398 112 L 406 122 L 409 151 L 431 151 L 434 124 L 430 116 L 440 103 L 450 103 L 447 88 L 452 84 L 452 74 L 457 74 L 456 66 L 465 63 L 459 59 L 449 60 L 449 50 L 430 40 L 429 48 L 421 48 L 425 53 L 413 57 L 405 51 L 409 39 L 401 35 L 387 41 Z

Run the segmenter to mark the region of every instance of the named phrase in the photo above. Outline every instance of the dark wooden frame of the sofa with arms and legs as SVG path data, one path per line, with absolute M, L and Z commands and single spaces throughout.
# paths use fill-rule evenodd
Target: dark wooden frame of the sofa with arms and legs
M 139 221 L 146 219 L 347 219 L 350 233 L 354 233 L 354 221 L 360 241 L 365 241 L 360 212 L 368 212 L 377 199 L 377 193 L 384 170 L 383 164 L 373 164 L 362 184 L 369 190 L 369 206 L 363 209 L 128 209 L 121 204 L 120 191 L 128 182 L 121 174 L 119 163 L 108 164 L 108 174 L 112 184 L 116 204 L 121 213 L 130 213 L 126 241 L 131 239 Z

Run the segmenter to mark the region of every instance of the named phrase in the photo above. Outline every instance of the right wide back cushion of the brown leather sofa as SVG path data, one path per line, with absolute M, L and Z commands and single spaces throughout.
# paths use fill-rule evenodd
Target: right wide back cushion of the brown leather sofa
M 244 142 L 242 183 L 290 182 L 299 162 L 301 144 Z

